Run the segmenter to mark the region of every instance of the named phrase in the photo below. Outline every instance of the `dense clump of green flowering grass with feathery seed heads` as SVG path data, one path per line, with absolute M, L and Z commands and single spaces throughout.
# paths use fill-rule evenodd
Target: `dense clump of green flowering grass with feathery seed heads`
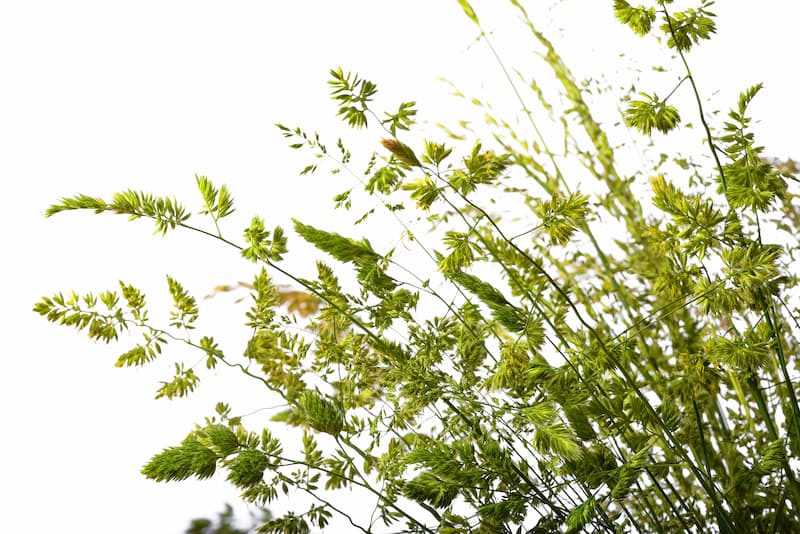
M 476 11 L 458 3 L 494 52 Z M 800 531 L 800 211 L 797 179 L 764 157 L 751 129 L 762 87 L 712 119 L 689 54 L 716 32 L 712 2 L 616 0 L 623 25 L 673 55 L 679 81 L 666 98 L 615 93 L 620 121 L 607 126 L 535 18 L 510 4 L 553 82 L 508 75 L 522 121 L 474 99 L 486 138 L 455 125 L 425 138 L 414 102 L 385 111 L 375 83 L 334 69 L 338 115 L 378 140 L 363 166 L 346 141 L 329 148 L 278 125 L 312 158 L 301 174 L 347 187 L 334 202 L 348 235 L 301 217 L 289 233 L 255 216 L 237 241 L 222 231 L 232 193 L 206 177 L 199 217 L 136 191 L 48 209 L 148 218 L 159 233 L 200 232 L 256 264 L 242 284 L 244 349 L 213 332 L 197 340 L 199 305 L 173 277 L 168 325 L 125 283 L 35 310 L 105 342 L 140 332 L 120 366 L 182 343 L 208 369 L 263 386 L 264 406 L 281 399 L 262 428 L 220 403 L 142 470 L 157 481 L 220 470 L 248 501 L 295 506 L 264 532 L 342 520 L 363 532 Z M 693 106 L 679 110 L 679 94 Z M 553 138 L 550 119 L 562 128 Z M 624 160 L 621 132 L 657 153 L 688 120 L 700 124 L 682 132 L 695 152 Z M 293 240 L 319 251 L 313 269 L 286 267 Z M 157 396 L 190 394 L 200 367 L 176 362 Z M 354 495 L 369 503 L 361 515 L 344 506 Z

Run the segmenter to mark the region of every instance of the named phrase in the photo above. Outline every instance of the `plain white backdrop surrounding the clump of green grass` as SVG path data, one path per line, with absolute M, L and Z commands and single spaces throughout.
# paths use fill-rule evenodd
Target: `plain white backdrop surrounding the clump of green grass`
M 635 56 L 645 47 L 612 22 L 610 5 L 573 0 L 557 12 L 531 11 L 579 77 L 613 75 L 615 51 Z M 769 155 L 797 158 L 800 8 L 755 5 L 715 6 L 719 35 L 690 61 L 706 96 L 720 90 L 721 108 L 765 82 L 753 105 L 760 142 Z M 525 70 L 535 62 L 529 41 L 504 39 L 520 28 L 509 6 L 474 6 L 509 63 Z M 325 82 L 336 66 L 377 82 L 392 106 L 417 100 L 431 123 L 452 123 L 466 109 L 438 76 L 501 105 L 512 101 L 507 89 L 495 89 L 501 73 L 476 35 L 457 3 L 441 0 L 0 3 L 4 531 L 182 532 L 190 518 L 236 502 L 236 491 L 217 479 L 156 484 L 139 474 L 141 465 L 179 443 L 218 400 L 232 400 L 235 413 L 268 405 L 225 370 L 188 400 L 154 401 L 180 350 L 152 368 L 118 370 L 113 362 L 127 340 L 95 345 L 31 311 L 42 295 L 110 289 L 119 279 L 152 295 L 158 309 L 166 273 L 201 297 L 250 279 L 250 265 L 187 233 L 154 237 L 144 221 L 44 219 L 44 209 L 62 196 L 127 188 L 197 206 L 198 173 L 230 186 L 238 211 L 226 228 L 234 238 L 256 213 L 268 226 L 289 226 L 292 216 L 333 224 L 330 198 L 352 183 L 299 177 L 307 160 L 286 148 L 273 124 L 333 132 L 334 141 L 341 129 Z M 668 56 L 660 61 L 677 68 Z M 354 139 L 369 151 L 379 134 Z M 303 258 L 294 265 L 307 267 Z M 235 355 L 243 310 L 233 300 L 204 302 L 203 325 Z

